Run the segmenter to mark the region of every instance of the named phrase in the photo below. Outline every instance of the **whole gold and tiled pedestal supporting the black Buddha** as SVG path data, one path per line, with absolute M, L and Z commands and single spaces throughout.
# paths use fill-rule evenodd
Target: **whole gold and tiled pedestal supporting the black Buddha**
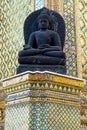
M 26 72 L 2 83 L 8 95 L 5 130 L 80 130 L 83 80 Z

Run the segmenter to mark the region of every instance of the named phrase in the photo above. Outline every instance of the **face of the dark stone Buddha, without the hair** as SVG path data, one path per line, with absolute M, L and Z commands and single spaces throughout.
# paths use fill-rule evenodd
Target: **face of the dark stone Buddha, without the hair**
M 48 29 L 49 28 L 49 21 L 47 18 L 39 19 L 39 29 Z

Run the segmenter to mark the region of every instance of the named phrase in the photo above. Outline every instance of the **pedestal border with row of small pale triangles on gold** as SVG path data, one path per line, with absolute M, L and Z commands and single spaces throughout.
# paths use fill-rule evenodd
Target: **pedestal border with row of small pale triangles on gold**
M 15 92 L 21 92 L 24 90 L 51 90 L 51 91 L 57 91 L 57 92 L 64 92 L 64 93 L 71 93 L 71 94 L 76 94 L 79 95 L 80 90 L 82 88 L 77 88 L 76 86 L 61 86 L 59 84 L 50 84 L 50 83 L 46 83 L 46 82 L 23 82 L 21 84 L 16 84 L 16 85 L 12 85 L 12 86 L 8 86 L 5 89 L 5 92 L 7 94 L 12 94 Z

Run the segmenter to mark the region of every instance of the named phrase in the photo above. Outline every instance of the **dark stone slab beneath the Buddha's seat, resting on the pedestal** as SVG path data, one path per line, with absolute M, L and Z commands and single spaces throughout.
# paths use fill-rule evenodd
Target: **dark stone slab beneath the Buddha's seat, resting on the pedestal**
M 66 67 L 63 65 L 25 65 L 21 64 L 17 68 L 17 74 L 25 71 L 51 71 L 60 74 L 66 74 Z

